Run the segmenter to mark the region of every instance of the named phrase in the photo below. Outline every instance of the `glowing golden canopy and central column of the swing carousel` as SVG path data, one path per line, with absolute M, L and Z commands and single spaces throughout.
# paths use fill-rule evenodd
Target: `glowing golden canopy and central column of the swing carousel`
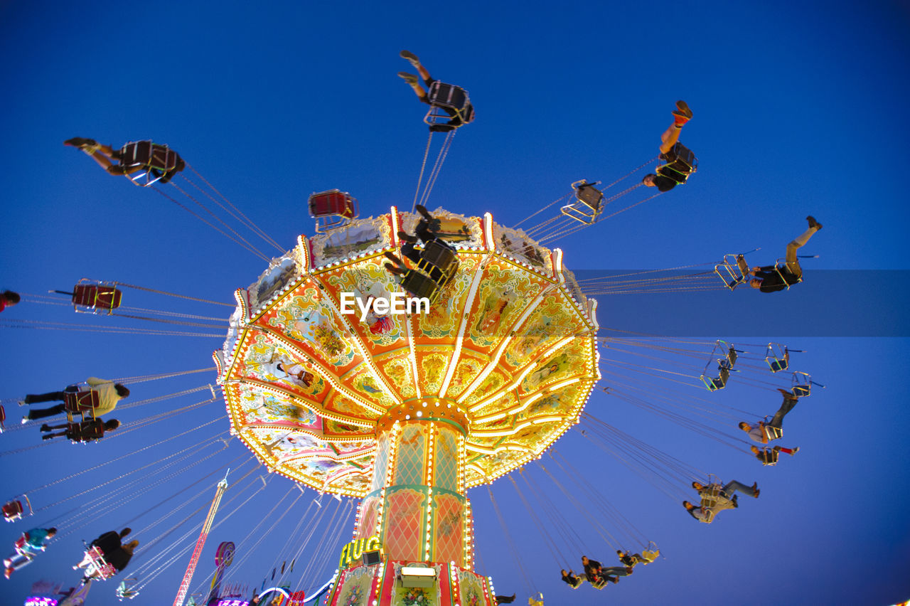
M 345 569 L 330 604 L 401 603 L 414 590 L 395 580 L 415 566 L 439 582 L 440 604 L 491 603 L 472 571 L 466 492 L 539 458 L 598 379 L 596 303 L 558 250 L 489 214 L 433 216 L 457 238 L 459 266 L 427 313 L 342 313 L 346 293 L 379 301 L 397 289 L 383 253 L 417 217 L 392 208 L 352 222 L 345 240 L 300 237 L 238 290 L 216 354 L 232 431 L 258 459 L 361 499 L 346 559 L 366 542 L 382 563 Z

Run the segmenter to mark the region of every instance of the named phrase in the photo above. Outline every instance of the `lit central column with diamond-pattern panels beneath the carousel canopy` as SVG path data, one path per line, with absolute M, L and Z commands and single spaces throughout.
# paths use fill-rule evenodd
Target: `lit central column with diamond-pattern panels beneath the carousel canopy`
M 378 432 L 372 490 L 360 504 L 355 538 L 378 535 L 386 560 L 454 562 L 470 570 L 464 420 L 448 408 L 441 413 L 432 400 L 423 404 L 413 415 L 404 407 L 393 412 Z

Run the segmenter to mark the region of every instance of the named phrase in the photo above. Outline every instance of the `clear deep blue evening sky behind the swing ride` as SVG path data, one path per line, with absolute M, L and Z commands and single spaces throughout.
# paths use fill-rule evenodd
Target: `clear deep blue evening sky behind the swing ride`
M 820 257 L 805 261 L 804 284 L 788 293 L 654 296 L 647 308 L 629 299 L 599 298 L 603 326 L 649 331 L 670 325 L 703 340 L 777 340 L 806 349 L 801 368 L 827 387 L 787 418 L 783 441 L 801 451 L 775 468 L 761 468 L 619 399 L 595 396 L 589 405 L 594 416 L 696 469 L 757 480 L 762 498 L 744 502 L 711 526 L 697 524 L 677 502 L 570 435 L 557 448 L 579 469 L 590 470 L 592 482 L 661 545 L 666 559 L 602 592 L 587 586 L 570 592 L 558 571 L 566 564 L 577 568 L 577 556 L 558 563 L 541 550 L 540 533 L 511 482 L 499 481 L 493 493 L 512 514 L 511 537 L 533 555 L 514 561 L 486 490 L 475 490 L 469 497 L 482 530 L 480 571 L 493 576 L 500 592 L 526 597 L 543 591 L 548 604 L 902 601 L 910 598 L 910 582 L 900 572 L 910 568 L 902 429 L 910 420 L 908 335 L 900 313 L 906 274 L 874 270 L 908 269 L 906 194 L 902 179 L 893 177 L 910 160 L 910 85 L 902 76 L 908 21 L 910 8 L 900 2 L 0 3 L 0 53 L 7 58 L 0 65 L 0 132 L 6 142 L 0 149 L 0 234 L 6 242 L 0 288 L 41 294 L 78 278 L 107 278 L 229 302 L 235 288 L 248 286 L 264 268 L 166 198 L 109 177 L 62 146 L 70 136 L 115 146 L 154 138 L 173 146 L 289 248 L 299 233 L 312 233 L 305 207 L 310 192 L 350 191 L 363 216 L 410 205 L 426 131 L 420 122 L 424 107 L 395 76 L 410 69 L 398 56 L 402 48 L 420 56 L 433 76 L 465 86 L 477 107 L 475 123 L 455 138 L 430 206 L 469 215 L 490 211 L 505 225 L 563 196 L 572 181 L 611 182 L 642 164 L 656 154 L 673 102 L 685 99 L 694 118 L 682 140 L 700 163 L 690 183 L 556 244 L 570 268 L 670 268 L 754 247 L 762 247 L 756 262 L 771 262 L 803 231 L 807 214 L 817 217 L 824 230 L 806 252 Z M 838 273 L 844 270 L 863 270 L 863 279 Z M 814 290 L 823 283 L 824 290 Z M 136 307 L 227 315 L 227 308 L 132 296 Z M 888 319 L 870 324 L 870 318 L 883 317 Z M 2 319 L 10 318 L 84 321 L 66 308 L 25 304 L 7 309 Z M 871 328 L 857 333 L 857 325 Z M 7 349 L 4 399 L 59 389 L 89 375 L 203 369 L 220 346 L 218 338 L 8 326 L 0 331 Z M 214 380 L 214 373 L 202 376 L 137 384 L 133 398 Z M 759 415 L 779 404 L 769 390 L 744 385 L 714 395 Z M 135 422 L 204 399 L 194 398 L 125 410 L 121 420 Z M 36 431 L 9 432 L 0 437 L 3 495 L 155 444 L 222 411 L 213 403 L 86 447 L 52 444 L 9 452 L 35 444 Z M 9 426 L 19 409 L 7 403 L 6 412 Z M 223 429 L 226 422 L 192 434 L 200 457 L 220 448 L 206 444 Z M 149 449 L 128 465 L 160 460 L 191 443 L 175 441 L 180 445 Z M 235 440 L 223 457 L 201 462 L 173 482 L 190 484 L 202 470 L 244 452 Z M 97 478 L 117 477 L 128 465 L 104 468 Z M 530 472 L 539 474 L 533 465 Z M 104 481 L 89 474 L 85 481 L 89 477 Z M 82 481 L 73 482 L 79 487 L 44 490 L 38 501 L 65 499 L 86 488 Z M 132 476 L 120 481 L 118 490 L 127 494 L 142 490 L 142 481 Z M 74 522 L 73 534 L 8 581 L 6 595 L 24 597 L 39 578 L 75 581 L 69 566 L 80 557 L 78 539 L 130 520 L 173 494 L 173 487 L 155 487 L 148 493 L 154 496 L 142 497 L 143 506 L 86 510 L 87 519 Z M 240 490 L 226 511 L 252 490 Z M 299 493 L 288 482 L 271 480 L 212 533 L 194 585 L 211 570 L 217 542 L 247 536 L 288 490 L 293 493 L 287 500 L 296 499 Z M 206 499 L 200 497 L 192 509 Z M 258 585 L 270 562 L 282 557 L 309 500 L 311 495 L 301 497 L 256 544 L 255 555 L 234 571 L 232 581 Z M 581 514 L 563 502 L 566 518 L 583 529 Z M 66 512 L 68 505 L 61 507 Z M 55 511 L 35 523 L 55 522 Z M 156 510 L 144 520 L 160 515 Z M 0 540 L 11 543 L 26 524 L 5 526 Z M 350 525 L 339 530 L 342 541 L 349 532 Z M 313 540 L 320 534 L 321 527 Z M 257 540 L 254 533 L 250 543 Z M 591 557 L 611 560 L 605 545 L 586 548 Z M 318 559 L 299 581 L 302 586 L 321 584 L 334 558 Z M 172 600 L 185 561 L 149 583 L 139 603 Z M 131 567 L 142 565 L 137 556 Z M 115 600 L 111 583 L 92 591 L 91 603 Z

